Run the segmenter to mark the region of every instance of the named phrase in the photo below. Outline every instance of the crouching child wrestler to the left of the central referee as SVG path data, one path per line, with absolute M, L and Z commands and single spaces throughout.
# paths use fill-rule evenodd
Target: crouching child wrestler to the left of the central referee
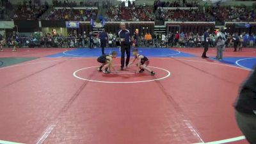
M 104 66 L 105 67 L 105 70 L 103 71 L 104 74 L 109 74 L 111 71 L 110 71 L 110 68 L 112 68 L 115 72 L 117 72 L 115 70 L 115 67 L 113 67 L 113 58 L 116 58 L 117 56 L 117 52 L 116 51 L 113 51 L 111 52 L 111 55 L 105 55 L 103 54 L 102 56 L 100 56 L 97 61 L 99 63 L 102 63 L 102 65 L 97 69 L 99 72 L 102 72 L 102 68 Z M 108 71 L 108 68 L 109 68 L 109 71 Z

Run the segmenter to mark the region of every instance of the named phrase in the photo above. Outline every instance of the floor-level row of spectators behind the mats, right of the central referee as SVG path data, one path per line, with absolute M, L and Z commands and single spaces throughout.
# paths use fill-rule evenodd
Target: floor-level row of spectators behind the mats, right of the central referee
M 239 35 L 239 44 L 241 47 L 255 47 L 256 45 L 256 35 L 253 33 L 225 33 L 227 37 L 226 47 L 233 47 L 234 37 Z M 209 34 L 209 47 L 216 47 L 216 32 Z M 199 35 L 198 33 L 141 33 L 138 35 L 134 33 L 133 36 L 136 46 L 139 47 L 203 47 L 204 46 L 204 35 Z

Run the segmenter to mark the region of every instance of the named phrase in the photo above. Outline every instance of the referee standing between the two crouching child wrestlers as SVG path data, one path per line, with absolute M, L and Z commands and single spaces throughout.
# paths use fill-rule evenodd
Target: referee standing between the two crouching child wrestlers
M 130 61 L 130 52 L 131 52 L 131 33 L 128 29 L 125 28 L 125 23 L 120 23 L 120 30 L 118 31 L 118 36 L 120 38 L 121 45 L 121 70 L 124 70 L 124 60 L 125 60 L 125 52 L 126 52 L 126 61 L 125 67 L 128 66 Z

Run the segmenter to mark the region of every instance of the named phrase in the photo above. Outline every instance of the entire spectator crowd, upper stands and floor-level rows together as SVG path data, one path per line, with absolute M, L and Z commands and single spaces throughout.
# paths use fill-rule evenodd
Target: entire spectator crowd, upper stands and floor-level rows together
M 97 19 L 98 10 L 91 8 L 79 10 L 74 8 L 75 6 L 99 6 L 98 2 L 95 1 L 60 1 L 53 0 L 53 8 L 45 13 L 49 6 L 47 3 L 44 5 L 33 3 L 29 0 L 21 4 L 18 4 L 12 19 L 14 20 L 36 20 L 42 18 L 45 20 L 74 20 L 74 21 L 89 21 L 91 19 Z M 103 2 L 102 2 L 103 3 Z M 6 8 L 12 6 L 8 0 L 1 0 L 0 3 L 0 18 L 3 19 L 6 15 Z M 57 8 L 63 7 L 63 8 Z M 256 21 L 255 10 L 245 6 L 204 6 L 199 8 L 196 1 L 154 1 L 153 6 L 148 5 L 136 5 L 134 2 L 128 2 L 128 6 L 125 3 L 118 5 L 112 5 L 109 1 L 104 1 L 104 8 L 106 8 L 105 15 L 100 15 L 99 19 L 105 19 L 107 21 L 232 21 L 232 22 L 243 22 L 243 21 Z M 172 8 L 168 8 L 172 7 Z M 43 14 L 47 14 L 41 17 Z M 255 35 L 249 33 L 226 33 L 227 36 L 227 47 L 230 47 L 237 42 L 234 41 L 235 37 L 239 37 L 239 44 L 243 47 L 255 45 Z M 45 47 L 99 47 L 99 33 L 95 35 L 90 33 L 77 34 L 76 31 L 69 33 L 67 37 L 61 34 L 47 33 L 40 37 L 34 35 L 30 36 L 26 40 L 23 40 L 24 36 L 20 36 L 19 33 L 15 36 L 7 36 L 6 44 L 11 44 L 11 41 L 15 37 L 20 44 L 36 44 L 45 45 Z M 25 36 L 26 37 L 26 36 Z M 216 34 L 211 33 L 210 46 L 215 46 Z M 202 47 L 204 45 L 204 36 L 198 33 L 138 33 L 133 36 L 136 45 L 140 46 L 153 46 L 153 47 Z M 236 38 L 237 39 L 237 38 Z M 109 46 L 115 46 L 118 41 L 115 33 L 109 33 Z

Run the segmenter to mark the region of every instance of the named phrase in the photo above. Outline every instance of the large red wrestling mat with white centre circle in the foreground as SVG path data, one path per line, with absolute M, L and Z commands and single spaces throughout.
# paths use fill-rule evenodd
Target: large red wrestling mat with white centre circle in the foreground
M 97 65 L 40 58 L 0 68 L 0 140 L 189 144 L 242 135 L 232 103 L 247 70 L 201 58 L 150 58 L 156 76 L 133 74 L 135 67 L 105 75 Z

